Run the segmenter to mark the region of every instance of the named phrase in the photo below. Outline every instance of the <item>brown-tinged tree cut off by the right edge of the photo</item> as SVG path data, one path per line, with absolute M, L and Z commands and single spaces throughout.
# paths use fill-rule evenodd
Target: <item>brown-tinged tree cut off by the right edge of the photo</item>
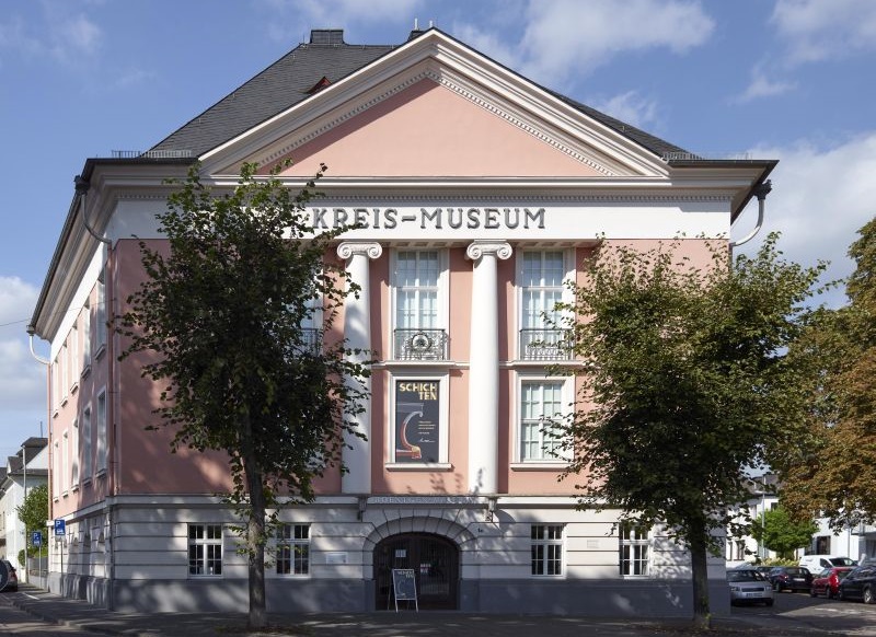
M 775 462 L 797 518 L 840 531 L 876 521 L 876 219 L 849 248 L 849 304 L 821 310 L 792 349 L 809 381 L 807 429 Z

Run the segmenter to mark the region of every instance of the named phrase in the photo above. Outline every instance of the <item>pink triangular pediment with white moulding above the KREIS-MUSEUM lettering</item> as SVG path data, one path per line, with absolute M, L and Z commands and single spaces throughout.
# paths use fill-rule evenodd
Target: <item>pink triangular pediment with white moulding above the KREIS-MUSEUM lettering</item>
M 666 176 L 654 153 L 431 31 L 201 158 L 328 178 Z

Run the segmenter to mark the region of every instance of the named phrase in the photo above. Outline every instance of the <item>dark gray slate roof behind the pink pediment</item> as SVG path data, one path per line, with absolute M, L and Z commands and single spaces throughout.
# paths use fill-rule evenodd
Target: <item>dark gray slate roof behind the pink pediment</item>
M 412 32 L 411 37 L 422 33 Z M 344 42 L 343 31 L 314 30 L 309 43 L 297 46 L 150 150 L 188 151 L 191 157 L 199 157 L 308 99 L 310 90 L 323 78 L 335 83 L 399 46 L 350 45 Z M 659 157 L 684 152 L 668 141 L 570 97 L 548 89 L 545 91 Z

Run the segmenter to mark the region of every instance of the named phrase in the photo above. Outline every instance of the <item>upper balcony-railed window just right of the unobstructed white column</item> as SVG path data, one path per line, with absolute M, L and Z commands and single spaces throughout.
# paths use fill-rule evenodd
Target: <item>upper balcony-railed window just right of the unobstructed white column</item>
M 568 294 L 570 278 L 563 251 L 526 251 L 518 260 L 520 288 L 520 354 L 523 360 L 570 358 L 564 348 L 566 329 L 560 326 L 556 304 Z

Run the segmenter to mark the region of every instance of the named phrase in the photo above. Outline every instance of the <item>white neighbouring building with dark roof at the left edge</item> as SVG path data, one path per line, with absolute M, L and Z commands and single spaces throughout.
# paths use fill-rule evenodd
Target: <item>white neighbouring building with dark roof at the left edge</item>
M 22 581 L 26 581 L 27 569 L 19 560 L 19 553 L 28 542 L 19 519 L 19 507 L 31 489 L 46 484 L 47 476 L 48 440 L 45 438 L 28 438 L 15 455 L 7 459 L 5 466 L 0 467 L 0 557 L 19 569 Z

